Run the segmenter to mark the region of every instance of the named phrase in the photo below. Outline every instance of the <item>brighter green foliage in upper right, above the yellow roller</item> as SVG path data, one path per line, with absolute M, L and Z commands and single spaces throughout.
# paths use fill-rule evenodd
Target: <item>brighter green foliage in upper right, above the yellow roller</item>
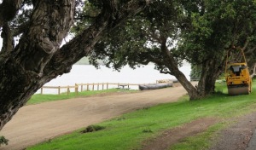
M 249 6 L 251 7 L 247 7 Z M 209 58 L 222 60 L 224 49 L 231 45 L 243 46 L 253 36 L 248 26 L 255 18 L 253 1 L 213 1 L 201 3 L 198 11 L 191 13 L 191 27 L 183 30 L 181 47 L 191 62 L 203 62 Z M 247 9 L 245 9 L 247 8 Z M 189 12 L 191 8 L 185 8 Z M 200 11 L 201 10 L 201 11 Z M 247 36 L 245 36 L 247 35 Z

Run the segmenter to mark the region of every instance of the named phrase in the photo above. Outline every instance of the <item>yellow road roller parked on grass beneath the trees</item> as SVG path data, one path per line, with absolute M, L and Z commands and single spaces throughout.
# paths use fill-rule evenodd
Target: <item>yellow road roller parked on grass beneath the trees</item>
M 238 54 L 239 59 L 232 59 L 232 51 Z M 233 61 L 233 62 L 230 62 Z M 235 61 L 235 62 L 234 62 Z M 230 49 L 225 66 L 225 78 L 229 95 L 248 95 L 252 91 L 252 78 L 250 77 L 246 57 L 241 48 Z

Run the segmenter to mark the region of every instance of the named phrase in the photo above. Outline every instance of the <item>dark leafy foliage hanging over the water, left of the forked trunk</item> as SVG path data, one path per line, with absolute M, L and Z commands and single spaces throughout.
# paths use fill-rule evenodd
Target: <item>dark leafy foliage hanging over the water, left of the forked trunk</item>
M 160 52 L 160 38 L 157 32 L 166 37 L 177 36 L 178 28 L 172 23 L 182 13 L 176 3 L 155 1 L 144 13 L 128 20 L 97 43 L 90 54 L 90 63 L 97 66 L 97 60 L 103 60 L 108 67 L 119 70 L 125 65 L 132 68 L 154 62 L 158 68 L 165 68 L 164 57 Z M 181 18 L 181 17 L 179 17 Z M 114 35 L 114 36 L 113 36 Z M 170 46 L 173 42 L 169 41 Z M 178 58 L 178 57 L 177 57 Z

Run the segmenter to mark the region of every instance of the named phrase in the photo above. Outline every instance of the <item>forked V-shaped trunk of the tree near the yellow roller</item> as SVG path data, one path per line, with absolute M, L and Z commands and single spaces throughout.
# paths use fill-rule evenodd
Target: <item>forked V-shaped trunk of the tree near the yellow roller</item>
M 183 85 L 189 95 L 189 99 L 197 100 L 206 95 L 212 94 L 215 89 L 215 82 L 220 73 L 224 70 L 225 58 L 218 60 L 211 58 L 202 64 L 202 72 L 199 83 L 194 86 L 184 76 L 183 72 L 179 71 L 177 61 L 175 61 L 172 52 L 166 47 L 166 39 L 161 39 L 161 53 L 164 55 L 165 66 L 170 70 L 169 74 L 175 76 L 178 82 Z

